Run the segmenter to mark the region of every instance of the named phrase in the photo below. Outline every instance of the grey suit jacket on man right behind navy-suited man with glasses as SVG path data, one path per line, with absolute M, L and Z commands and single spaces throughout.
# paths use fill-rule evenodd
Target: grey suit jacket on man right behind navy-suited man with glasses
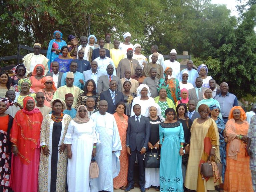
M 119 77 L 113 75 L 113 79 L 117 82 L 117 91 L 122 92 L 122 85 Z M 102 91 L 106 91 L 109 89 L 109 78 L 108 75 L 103 75 L 99 78 L 97 85 L 97 92 L 100 94 Z

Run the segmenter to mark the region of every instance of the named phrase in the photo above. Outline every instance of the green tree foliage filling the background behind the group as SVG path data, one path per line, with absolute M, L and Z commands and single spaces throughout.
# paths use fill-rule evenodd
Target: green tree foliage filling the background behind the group
M 152 44 L 159 52 L 188 51 L 195 63 L 205 63 L 217 82 L 226 81 L 239 97 L 256 93 L 256 1 L 237 6 L 239 17 L 211 0 L 0 0 L 1 56 L 17 53 L 18 44 L 48 46 L 59 29 L 67 41 L 105 33 L 123 41 L 129 31 L 132 43 L 144 54 Z M 239 88 L 238 88 L 239 87 Z

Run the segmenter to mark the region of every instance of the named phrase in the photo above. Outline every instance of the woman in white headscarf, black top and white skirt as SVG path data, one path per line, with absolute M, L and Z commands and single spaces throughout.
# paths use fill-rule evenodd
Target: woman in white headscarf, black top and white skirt
M 159 125 L 165 121 L 162 117 L 161 108 L 157 103 L 151 103 L 148 106 L 149 122 L 150 122 L 150 137 L 148 141 L 147 153 L 160 154 L 160 140 L 159 140 Z M 160 189 L 159 168 L 145 168 L 145 188 L 148 190 L 150 186 L 155 186 L 155 190 Z

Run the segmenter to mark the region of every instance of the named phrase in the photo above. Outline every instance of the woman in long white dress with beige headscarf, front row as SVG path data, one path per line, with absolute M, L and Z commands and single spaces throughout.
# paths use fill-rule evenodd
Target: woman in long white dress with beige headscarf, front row
M 86 106 L 77 108 L 76 117 L 70 121 L 64 143 L 68 151 L 68 190 L 90 191 L 89 167 L 96 155 L 98 142 L 95 125 L 88 117 Z

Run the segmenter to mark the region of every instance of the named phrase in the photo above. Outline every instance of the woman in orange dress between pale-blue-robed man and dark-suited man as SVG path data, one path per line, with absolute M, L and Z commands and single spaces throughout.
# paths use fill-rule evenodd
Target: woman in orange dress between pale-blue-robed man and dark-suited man
M 125 104 L 124 102 L 118 102 L 116 104 L 116 112 L 113 114 L 116 120 L 116 124 L 119 131 L 119 136 L 122 144 L 120 159 L 120 172 L 116 178 L 114 178 L 114 189 L 124 190 L 127 185 L 128 176 L 128 153 L 126 152 L 126 130 L 128 127 L 128 116 L 124 114 Z

